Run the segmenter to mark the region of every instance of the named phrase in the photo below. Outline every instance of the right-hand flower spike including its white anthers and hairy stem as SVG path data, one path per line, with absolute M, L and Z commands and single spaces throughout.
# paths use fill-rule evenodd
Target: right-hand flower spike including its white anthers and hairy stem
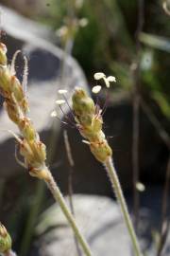
M 101 72 L 95 73 L 94 79 L 97 81 L 101 79 L 104 80 L 108 88 L 110 87 L 110 82 L 115 82 L 114 77 L 106 77 L 106 75 Z M 92 91 L 93 93 L 98 93 L 100 90 L 101 86 L 96 85 L 93 87 Z M 83 142 L 90 146 L 90 150 L 94 157 L 105 166 L 107 174 L 110 177 L 113 192 L 115 192 L 127 225 L 135 256 L 142 256 L 143 253 L 139 246 L 138 239 L 127 210 L 127 204 L 121 189 L 121 184 L 113 165 L 112 150 L 108 144 L 105 134 L 102 131 L 102 110 L 98 105 L 94 105 L 93 99 L 91 99 L 82 88 L 76 88 L 72 97 L 72 102 L 76 127 L 78 128 L 81 136 L 87 139 L 83 140 Z

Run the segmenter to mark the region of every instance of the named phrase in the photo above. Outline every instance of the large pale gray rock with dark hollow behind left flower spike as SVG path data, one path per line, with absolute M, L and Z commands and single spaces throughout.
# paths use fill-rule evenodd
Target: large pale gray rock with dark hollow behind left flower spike
M 65 68 L 61 81 L 59 72 L 64 53 L 59 47 L 44 39 L 49 34 L 47 29 L 23 18 L 16 12 L 4 7 L 1 9 L 4 14 L 2 28 L 7 33 L 3 41 L 8 46 L 8 58 L 11 59 L 16 49 L 22 49 L 29 59 L 27 95 L 30 103 L 30 118 L 33 120 L 37 131 L 42 134 L 42 139 L 47 141 L 53 122 L 50 114 L 59 97 L 58 89 L 67 89 L 69 99 L 76 85 L 81 84 L 87 89 L 86 79 L 76 61 L 71 56 L 65 56 Z M 18 64 L 20 67 L 22 66 L 22 58 L 19 58 L 17 66 Z M 17 68 L 17 74 L 22 78 L 22 68 Z M 68 107 L 64 111 L 67 113 Z M 62 118 L 62 113 L 60 116 Z M 60 122 L 57 119 L 55 122 L 56 132 L 59 132 Z M 18 131 L 8 119 L 3 108 L 0 110 L 0 123 L 1 129 L 5 130 L 1 131 L 0 137 L 0 178 L 4 178 L 17 174 L 20 170 L 14 157 L 14 139 L 6 130 L 15 133 Z

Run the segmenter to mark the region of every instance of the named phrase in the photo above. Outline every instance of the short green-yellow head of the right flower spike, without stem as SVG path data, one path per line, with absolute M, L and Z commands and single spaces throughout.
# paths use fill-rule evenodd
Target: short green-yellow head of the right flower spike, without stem
M 112 151 L 102 131 L 103 119 L 100 109 L 96 114 L 93 100 L 82 88 L 76 88 L 72 101 L 80 134 L 88 139 L 95 158 L 105 163 L 108 157 L 112 155 Z

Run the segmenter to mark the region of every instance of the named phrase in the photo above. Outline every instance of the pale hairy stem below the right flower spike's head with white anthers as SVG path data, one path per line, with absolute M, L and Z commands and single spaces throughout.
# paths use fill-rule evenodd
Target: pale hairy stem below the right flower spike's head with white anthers
M 116 171 L 115 171 L 115 168 L 114 168 L 111 157 L 108 157 L 107 161 L 105 162 L 105 167 L 106 167 L 106 171 L 107 171 L 107 173 L 110 177 L 110 182 L 111 182 L 113 191 L 115 192 L 117 200 L 120 204 L 120 207 L 121 207 L 121 210 L 122 210 L 122 213 L 123 213 L 123 216 L 124 216 L 124 220 L 125 220 L 126 225 L 127 225 L 127 230 L 128 230 L 129 235 L 130 235 L 131 242 L 132 242 L 132 245 L 133 245 L 133 248 L 134 248 L 135 255 L 136 256 L 142 256 L 143 254 L 141 252 L 137 236 L 135 234 L 132 222 L 130 220 L 130 216 L 129 216 L 129 213 L 128 213 L 128 210 L 127 210 L 127 204 L 126 204 L 126 201 L 125 201 L 122 189 L 121 189 L 121 185 L 120 185 L 118 176 L 116 174 Z

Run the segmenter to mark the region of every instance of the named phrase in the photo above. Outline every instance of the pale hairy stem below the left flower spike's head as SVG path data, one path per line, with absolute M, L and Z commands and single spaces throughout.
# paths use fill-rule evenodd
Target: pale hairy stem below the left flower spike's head
M 74 230 L 76 239 L 79 242 L 79 244 L 81 245 L 82 249 L 84 250 L 85 255 L 92 256 L 93 254 L 91 252 L 91 249 L 90 249 L 89 245 L 87 244 L 85 238 L 81 234 L 79 228 L 77 227 L 75 218 L 72 215 L 69 208 L 67 207 L 65 200 L 64 200 L 61 192 L 59 191 L 59 187 L 58 187 L 57 183 L 55 182 L 50 171 L 48 171 L 48 177 L 44 181 L 46 182 L 47 187 L 53 194 L 55 200 L 59 203 L 59 207 L 62 210 L 62 212 L 64 213 L 65 217 L 67 218 L 67 221 L 69 222 L 70 226 Z

